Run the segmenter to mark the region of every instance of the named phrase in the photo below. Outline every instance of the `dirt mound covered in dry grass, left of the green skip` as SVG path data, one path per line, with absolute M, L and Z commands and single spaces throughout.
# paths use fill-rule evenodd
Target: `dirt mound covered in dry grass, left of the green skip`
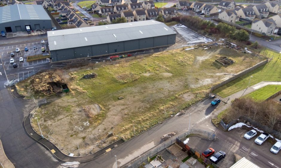
M 53 72 L 43 72 L 30 80 L 32 90 L 46 95 L 61 91 L 61 77 Z

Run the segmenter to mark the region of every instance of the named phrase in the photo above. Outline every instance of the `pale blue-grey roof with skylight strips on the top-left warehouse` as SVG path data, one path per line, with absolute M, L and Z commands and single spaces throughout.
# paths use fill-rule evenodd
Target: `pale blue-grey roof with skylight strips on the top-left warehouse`
M 15 4 L 0 7 L 0 23 L 17 20 L 51 20 L 42 5 Z

